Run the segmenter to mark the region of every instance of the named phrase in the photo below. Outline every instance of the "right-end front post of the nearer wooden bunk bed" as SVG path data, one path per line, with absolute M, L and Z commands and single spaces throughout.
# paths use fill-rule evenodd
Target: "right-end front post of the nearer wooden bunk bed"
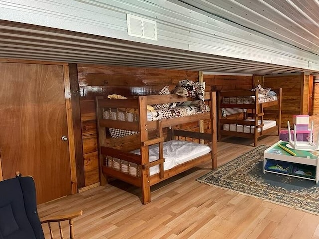
M 210 93 L 210 119 L 211 119 L 211 156 L 212 168 L 217 168 L 217 105 L 216 92 Z

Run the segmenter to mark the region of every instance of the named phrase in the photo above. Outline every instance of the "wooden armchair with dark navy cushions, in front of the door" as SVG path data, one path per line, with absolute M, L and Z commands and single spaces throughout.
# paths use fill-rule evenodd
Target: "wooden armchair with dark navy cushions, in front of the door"
M 52 222 L 58 222 L 60 237 L 64 238 L 61 222 L 69 220 L 70 239 L 74 239 L 73 218 L 82 215 L 82 210 L 63 216 L 39 219 L 36 206 L 36 191 L 31 176 L 0 181 L 0 239 L 44 239 L 41 224 L 48 223 L 51 239 Z

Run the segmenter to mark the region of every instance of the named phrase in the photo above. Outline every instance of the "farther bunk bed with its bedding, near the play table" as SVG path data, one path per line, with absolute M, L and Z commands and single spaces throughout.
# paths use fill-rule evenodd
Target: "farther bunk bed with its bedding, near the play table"
M 219 91 L 217 94 L 218 141 L 224 136 L 236 136 L 254 139 L 254 147 L 258 138 L 281 128 L 282 89 L 272 89 L 272 96 L 256 91 Z M 229 114 L 227 114 L 227 112 Z M 229 115 L 241 114 L 238 119 Z M 267 120 L 270 119 L 270 120 Z

